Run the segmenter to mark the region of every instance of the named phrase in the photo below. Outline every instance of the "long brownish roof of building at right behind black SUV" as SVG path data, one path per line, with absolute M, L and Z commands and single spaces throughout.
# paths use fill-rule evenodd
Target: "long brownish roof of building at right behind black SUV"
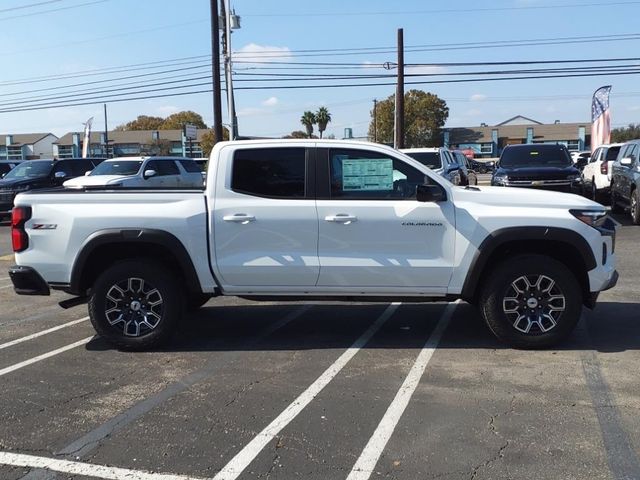
M 578 129 L 585 127 L 585 135 L 591 134 L 591 122 L 554 123 L 550 125 L 505 125 L 496 127 L 463 127 L 449 129 L 449 143 L 489 143 L 492 130 L 498 130 L 499 138 L 527 138 L 527 128 L 533 128 L 533 141 L 563 141 L 578 138 Z

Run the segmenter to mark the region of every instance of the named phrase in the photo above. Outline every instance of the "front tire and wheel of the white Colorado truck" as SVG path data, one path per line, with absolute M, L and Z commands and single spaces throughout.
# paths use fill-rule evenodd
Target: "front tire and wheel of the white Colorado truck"
M 482 316 L 512 347 L 551 347 L 569 336 L 582 313 L 582 290 L 563 263 L 519 255 L 499 264 L 480 296 Z

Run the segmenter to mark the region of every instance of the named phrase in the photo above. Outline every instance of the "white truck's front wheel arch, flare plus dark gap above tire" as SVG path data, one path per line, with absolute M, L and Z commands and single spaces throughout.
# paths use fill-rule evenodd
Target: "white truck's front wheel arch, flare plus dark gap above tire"
M 583 293 L 590 295 L 588 272 L 597 266 L 589 243 L 579 233 L 554 227 L 512 227 L 500 229 L 484 239 L 474 256 L 462 288 L 462 298 L 477 303 L 493 265 L 520 254 L 547 255 L 566 265 L 575 275 Z

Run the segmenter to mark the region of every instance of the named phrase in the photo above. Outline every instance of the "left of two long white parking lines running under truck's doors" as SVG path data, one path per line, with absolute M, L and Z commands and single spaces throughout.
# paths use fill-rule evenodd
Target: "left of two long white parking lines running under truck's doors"
M 258 456 L 267 444 L 280 433 L 311 401 L 326 387 L 331 380 L 349 363 L 358 351 L 364 347 L 371 337 L 394 314 L 400 303 L 392 303 L 377 320 L 349 347 L 340 357 L 320 375 L 298 398 L 296 398 L 280 415 L 251 440 L 240 452 L 218 472 L 213 480 L 235 480 L 245 468 Z

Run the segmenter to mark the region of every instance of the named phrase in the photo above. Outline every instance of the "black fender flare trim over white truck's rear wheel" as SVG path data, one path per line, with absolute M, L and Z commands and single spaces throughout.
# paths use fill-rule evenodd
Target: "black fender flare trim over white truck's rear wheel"
M 190 292 L 202 292 L 200 279 L 191 260 L 191 256 L 182 242 L 173 234 L 149 228 L 111 228 L 98 230 L 83 242 L 71 269 L 69 292 L 84 295 L 82 285 L 87 261 L 98 247 L 108 244 L 151 244 L 164 247 L 171 252 L 178 264 Z

